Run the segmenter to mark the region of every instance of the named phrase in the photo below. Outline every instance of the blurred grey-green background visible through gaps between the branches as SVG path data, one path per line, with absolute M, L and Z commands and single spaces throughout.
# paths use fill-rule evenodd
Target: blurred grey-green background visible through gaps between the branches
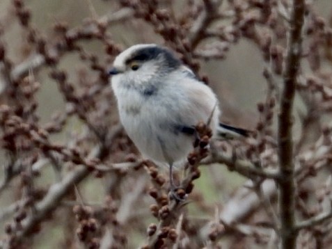
M 0 24 L 3 29 L 3 34 L 0 36 L 1 42 L 6 47 L 6 56 L 10 58 L 13 65 L 19 65 L 20 63 L 29 60 L 35 56 L 35 47 L 26 42 L 28 37 L 28 31 L 22 29 L 22 25 L 17 22 L 15 17 L 15 8 L 13 6 L 14 1 L 1 0 L 0 1 Z M 168 2 L 171 2 L 169 6 L 172 6 L 174 15 L 181 15 L 182 11 L 187 8 L 187 2 L 189 1 L 165 1 L 165 6 L 168 6 Z M 193 1 L 200 2 L 200 1 Z M 232 2 L 232 1 L 230 1 Z M 241 3 L 241 1 L 239 1 Z M 228 9 L 231 6 L 230 3 L 223 3 L 221 9 Z M 58 34 L 54 32 L 54 24 L 67 23 L 68 29 L 75 29 L 76 27 L 85 26 L 90 19 L 100 19 L 102 17 L 111 17 L 112 13 L 118 13 L 124 7 L 121 6 L 120 1 L 109 0 L 26 0 L 24 6 L 31 10 L 30 25 L 34 29 L 38 30 L 38 35 L 45 38 L 50 44 L 52 41 L 58 39 Z M 225 7 L 226 6 L 226 7 Z M 329 0 L 315 1 L 313 7 L 315 13 L 326 19 L 328 22 L 331 19 L 332 4 Z M 228 24 L 228 20 L 223 21 Z M 131 45 L 137 43 L 150 43 L 154 42 L 159 45 L 165 45 L 164 39 L 161 35 L 156 34 L 152 26 L 145 22 L 143 19 L 134 18 L 129 16 L 128 18 L 121 19 L 119 22 L 114 22 L 107 28 L 109 39 L 113 41 L 118 47 L 119 51 L 125 49 Z M 93 54 L 97 56 L 102 65 L 110 66 L 114 56 L 105 53 L 104 41 L 97 39 L 79 40 L 79 45 L 84 47 L 86 54 Z M 205 40 L 203 44 L 199 45 L 204 47 L 209 45 L 210 40 Z M 211 42 L 213 43 L 213 42 Z M 167 43 L 166 43 L 167 46 Z M 221 120 L 230 124 L 234 124 L 238 127 L 245 129 L 255 130 L 258 120 L 260 120 L 260 113 L 258 112 L 257 105 L 259 102 L 264 102 L 267 95 L 267 82 L 263 76 L 264 68 L 269 67 L 266 61 L 262 60 L 262 51 L 253 40 L 240 38 L 237 42 L 230 42 L 226 51 L 223 53 L 220 59 L 208 59 L 198 58 L 200 63 L 200 70 L 198 74 L 200 76 L 207 75 L 209 78 L 209 84 L 214 89 L 221 101 L 221 109 L 223 115 Z M 68 81 L 73 86 L 79 88 L 84 84 L 84 81 L 95 82 L 100 77 L 100 72 L 90 69 L 90 62 L 81 59 L 81 54 L 76 52 L 68 52 L 63 54 L 59 58 L 56 64 L 57 70 L 65 70 Z M 303 69 L 308 68 L 308 73 L 303 74 L 310 75 L 311 71 L 309 65 L 303 63 Z M 44 126 L 55 113 L 65 113 L 68 111 L 67 101 L 61 90 L 59 90 L 58 84 L 52 77 L 49 77 L 50 73 L 54 69 L 53 65 L 42 65 L 36 70 L 30 70 L 30 74 L 33 74 L 35 81 L 40 83 L 39 90 L 35 93 L 38 107 L 36 109 L 36 115 L 39 117 L 40 126 Z M 324 70 L 331 71 L 331 64 L 329 61 L 323 61 L 322 72 Z M 281 77 L 275 78 L 276 83 L 280 84 Z M 79 83 L 81 82 L 81 83 Z M 2 86 L 2 89 L 5 88 Z M 104 89 L 104 88 L 103 88 Z M 110 113 L 112 117 L 117 117 L 116 105 L 111 99 L 110 86 L 105 86 L 105 91 L 109 91 L 108 96 L 110 99 L 109 106 L 111 106 Z M 3 103 L 3 101 L 2 101 Z M 294 107 L 296 113 L 295 116 L 299 120 L 299 112 L 306 110 L 303 107 L 303 100 L 297 97 Z M 278 113 L 278 110 L 276 110 Z M 103 118 L 103 117 L 99 117 Z M 116 122 L 116 118 L 111 118 L 109 121 L 111 124 Z M 86 124 L 82 122 L 80 118 L 72 115 L 65 123 L 65 127 L 61 132 L 50 135 L 50 139 L 53 143 L 70 144 L 73 134 L 80 134 Z M 274 116 L 272 127 L 272 133 L 275 134 L 276 128 L 276 116 Z M 107 128 L 107 127 L 106 127 Z M 294 126 L 294 132 L 299 139 L 301 134 L 301 124 L 297 122 Z M 122 134 L 122 137 L 125 134 Z M 129 143 L 127 140 L 124 143 Z M 129 146 L 129 145 L 128 145 Z M 132 146 L 132 145 L 131 145 Z M 129 149 L 128 149 L 129 150 Z M 136 153 L 133 147 L 130 147 L 130 152 Z M 1 153 L 1 161 L 8 160 L 6 153 Z M 123 154 L 127 154 L 124 152 Z M 111 158 L 109 161 L 121 162 L 125 159 L 125 155 L 116 154 L 118 157 Z M 204 207 L 196 207 L 196 204 L 189 205 L 189 214 L 193 216 L 199 216 L 203 219 L 212 219 L 214 217 L 214 209 L 219 207 L 222 209 L 222 203 L 227 202 L 232 198 L 235 191 L 242 186 L 246 181 L 246 178 L 240 176 L 236 172 L 230 172 L 226 167 L 220 165 L 211 165 L 209 167 L 202 167 L 202 176 L 195 183 L 195 189 L 199 190 L 200 198 L 203 198 L 205 204 Z M 139 177 L 135 175 L 132 177 Z M 143 174 L 143 170 L 138 171 L 139 175 Z M 164 172 L 166 175 L 166 172 Z M 111 178 L 111 177 L 110 177 Z M 79 193 L 84 197 L 84 201 L 92 205 L 99 205 L 104 202 L 105 188 L 109 186 L 109 175 L 104 177 L 86 177 L 83 183 L 79 184 Z M 6 223 L 12 217 L 12 214 L 6 214 L 10 204 L 15 203 L 21 192 L 17 190 L 20 179 L 14 179 L 10 182 L 8 187 L 0 193 L 0 224 L 3 231 L 6 227 Z M 49 166 L 43 166 L 40 170 L 40 177 L 35 180 L 36 186 L 42 186 L 45 190 L 52 184 L 58 181 L 57 174 L 54 169 Z M 130 182 L 130 180 L 129 180 Z M 121 183 L 123 184 L 123 183 Z M 70 195 L 74 195 L 71 193 Z M 144 204 L 139 206 L 136 211 L 141 212 L 142 216 L 148 217 L 143 220 L 145 227 L 151 222 L 156 222 L 155 218 L 149 216 L 148 204 L 153 202 L 149 196 L 144 200 L 144 204 L 147 204 L 144 209 Z M 68 240 L 68 231 L 74 234 L 77 223 L 72 220 L 68 220 L 68 216 L 72 215 L 72 206 L 70 200 L 62 203 L 64 206 L 68 206 L 65 211 L 58 212 L 57 214 L 51 214 L 56 217 L 52 220 L 52 223 L 42 225 L 42 230 L 37 236 L 31 239 L 31 242 L 26 248 L 65 248 L 66 239 Z M 264 215 L 263 215 L 264 216 Z M 129 222 L 129 221 L 128 221 Z M 135 224 L 135 223 L 133 223 Z M 134 225 L 129 227 L 126 231 L 130 233 L 130 240 L 127 243 L 128 248 L 136 248 L 143 245 L 145 241 L 144 226 L 136 229 Z M 3 232 L 1 232 L 3 234 Z M 229 239 L 229 238 L 228 238 Z M 234 239 L 234 238 L 233 238 Z M 236 238 L 235 238 L 236 239 Z M 76 239 L 75 239 L 76 240 Z M 227 238 L 223 241 L 227 241 Z M 226 243 L 227 242 L 223 242 Z M 78 244 L 76 244 L 78 245 Z M 264 248 L 264 245 L 255 246 L 239 246 L 237 248 Z M 77 248 L 72 243 L 71 248 Z M 227 246 L 225 247 L 227 248 Z M 235 248 L 235 247 L 233 247 Z

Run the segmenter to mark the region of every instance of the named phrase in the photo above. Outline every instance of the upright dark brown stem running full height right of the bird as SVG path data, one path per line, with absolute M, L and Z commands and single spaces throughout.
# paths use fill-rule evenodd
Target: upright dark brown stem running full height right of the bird
M 296 248 L 295 225 L 295 184 L 292 140 L 292 110 L 297 85 L 297 76 L 302 51 L 302 26 L 306 5 L 304 0 L 293 0 L 290 17 L 289 40 L 285 61 L 284 88 L 280 99 L 278 117 L 279 164 L 282 181 L 279 181 L 280 236 L 281 248 Z

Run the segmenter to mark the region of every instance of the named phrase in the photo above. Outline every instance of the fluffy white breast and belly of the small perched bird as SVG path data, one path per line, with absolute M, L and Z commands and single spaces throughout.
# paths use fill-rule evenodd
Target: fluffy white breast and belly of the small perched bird
M 216 129 L 219 109 L 212 113 L 217 104 L 212 90 L 196 80 L 181 80 L 162 82 L 155 95 L 147 96 L 120 77 L 112 79 L 120 120 L 139 151 L 152 160 L 174 163 L 193 149 L 193 136 L 172 129 L 177 124 L 192 127 L 213 114 L 212 130 Z

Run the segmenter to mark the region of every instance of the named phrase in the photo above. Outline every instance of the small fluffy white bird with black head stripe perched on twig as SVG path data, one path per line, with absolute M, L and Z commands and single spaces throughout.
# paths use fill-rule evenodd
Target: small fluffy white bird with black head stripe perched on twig
M 173 166 L 193 150 L 198 122 L 208 123 L 214 136 L 248 136 L 219 122 L 212 88 L 167 47 L 133 45 L 116 56 L 109 75 L 122 126 L 144 158 L 169 166 L 171 191 Z

